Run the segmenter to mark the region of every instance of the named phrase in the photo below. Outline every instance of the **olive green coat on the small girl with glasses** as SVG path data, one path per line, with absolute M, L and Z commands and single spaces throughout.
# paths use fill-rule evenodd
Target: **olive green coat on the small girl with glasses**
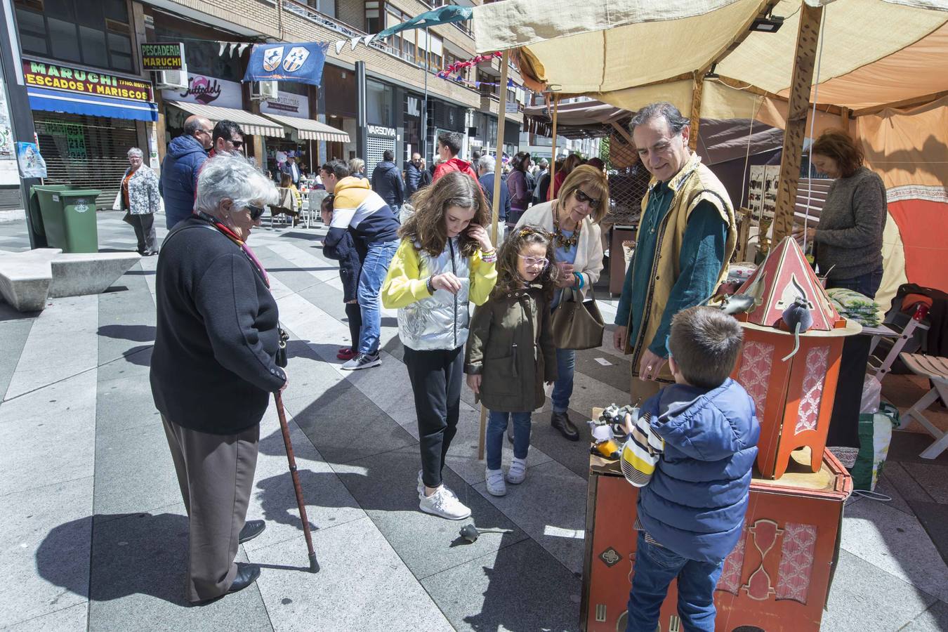
M 482 375 L 490 410 L 530 412 L 543 406 L 543 383 L 556 380 L 550 304 L 538 284 L 499 295 L 474 310 L 465 373 Z

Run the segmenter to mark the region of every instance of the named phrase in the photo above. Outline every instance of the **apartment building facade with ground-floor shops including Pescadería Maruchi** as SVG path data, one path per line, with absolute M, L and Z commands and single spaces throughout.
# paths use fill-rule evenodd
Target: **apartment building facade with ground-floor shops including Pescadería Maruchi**
M 384 149 L 392 149 L 397 161 L 423 150 L 430 159 L 441 131 L 464 135 L 467 151 L 493 152 L 501 88 L 472 82 L 499 82 L 500 61 L 466 69 L 462 77 L 471 83 L 434 74 L 474 57 L 470 24 L 349 44 L 445 1 L 13 0 L 22 63 L 36 81 L 27 81 L 27 93 L 50 178 L 107 190 L 101 204 L 118 189 L 129 147 L 143 149 L 157 168 L 167 143 L 194 112 L 237 119 L 248 132 L 246 152 L 271 169 L 287 152 L 298 153 L 310 170 L 329 158 L 356 157 L 359 61 L 366 66 L 369 125 L 367 155 L 360 157 L 370 172 Z M 337 50 L 341 40 L 346 45 Z M 175 87 L 142 69 L 139 45 L 146 42 L 184 44 L 187 75 Z M 277 42 L 331 43 L 322 84 L 280 82 L 276 98 L 255 97 L 254 86 L 241 82 L 248 45 Z M 90 102 L 88 81 L 59 81 L 80 76 L 134 92 L 109 97 L 106 91 Z M 520 79 L 514 69 L 510 76 Z M 134 99 L 121 97 L 132 94 Z M 508 97 L 521 106 L 526 93 L 515 88 Z M 514 152 L 522 115 L 507 118 L 501 134 L 505 151 Z

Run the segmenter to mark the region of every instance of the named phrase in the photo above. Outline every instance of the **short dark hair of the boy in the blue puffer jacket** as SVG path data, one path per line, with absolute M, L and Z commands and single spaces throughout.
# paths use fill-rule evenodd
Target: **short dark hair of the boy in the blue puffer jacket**
M 713 307 L 689 307 L 671 319 L 668 352 L 688 384 L 718 388 L 734 370 L 743 338 L 734 316 Z

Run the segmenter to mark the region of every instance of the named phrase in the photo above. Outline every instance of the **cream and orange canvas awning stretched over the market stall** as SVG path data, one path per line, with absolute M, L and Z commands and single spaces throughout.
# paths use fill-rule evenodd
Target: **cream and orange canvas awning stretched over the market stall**
M 948 0 L 806 0 L 823 5 L 811 99 L 861 110 L 948 94 Z M 670 100 L 690 112 L 694 77 L 702 117 L 771 124 L 793 72 L 801 0 L 781 0 L 776 32 L 751 31 L 761 0 L 508 0 L 474 9 L 478 52 L 518 48 L 525 80 L 637 110 Z M 838 116 L 833 117 L 838 121 Z M 782 125 L 780 125 L 782 126 Z

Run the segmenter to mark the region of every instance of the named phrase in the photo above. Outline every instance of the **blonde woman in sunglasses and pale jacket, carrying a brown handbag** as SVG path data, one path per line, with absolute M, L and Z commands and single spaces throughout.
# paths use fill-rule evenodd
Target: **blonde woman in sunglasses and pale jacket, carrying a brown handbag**
M 553 233 L 559 274 L 551 309 L 556 309 L 565 289 L 575 289 L 583 299 L 599 280 L 602 273 L 599 222 L 608 211 L 609 181 L 606 174 L 588 165 L 580 165 L 563 181 L 557 199 L 534 205 L 520 216 L 518 230 L 523 226 L 538 226 Z M 556 339 L 554 344 L 557 378 L 550 398 L 553 404 L 550 424 L 570 441 L 579 441 L 579 431 L 567 412 L 573 395 L 576 352 L 560 348 Z

